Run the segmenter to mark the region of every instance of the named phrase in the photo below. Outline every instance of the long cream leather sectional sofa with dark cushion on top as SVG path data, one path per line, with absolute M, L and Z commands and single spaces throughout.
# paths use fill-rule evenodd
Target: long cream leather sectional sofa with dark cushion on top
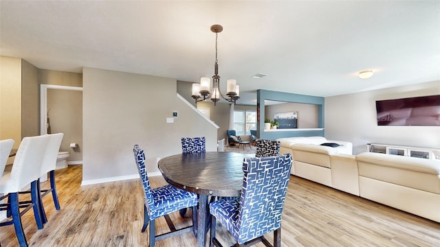
M 375 152 L 353 155 L 351 143 L 324 137 L 278 141 L 281 154 L 292 154 L 295 176 L 440 222 L 440 161 Z M 340 143 L 342 148 L 320 143 Z

